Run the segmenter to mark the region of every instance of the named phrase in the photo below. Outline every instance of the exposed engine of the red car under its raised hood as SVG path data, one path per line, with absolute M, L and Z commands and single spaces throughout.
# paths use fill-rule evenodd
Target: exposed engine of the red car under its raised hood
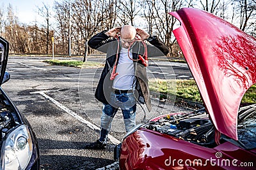
M 204 110 L 189 114 L 167 115 L 156 122 L 149 122 L 145 128 L 199 145 L 214 143 L 214 127 Z

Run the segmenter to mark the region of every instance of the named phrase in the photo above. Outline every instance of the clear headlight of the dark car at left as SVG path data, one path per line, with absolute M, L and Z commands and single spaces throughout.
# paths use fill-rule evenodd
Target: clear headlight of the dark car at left
M 33 152 L 27 125 L 20 125 L 6 136 L 1 150 L 2 169 L 26 169 Z

